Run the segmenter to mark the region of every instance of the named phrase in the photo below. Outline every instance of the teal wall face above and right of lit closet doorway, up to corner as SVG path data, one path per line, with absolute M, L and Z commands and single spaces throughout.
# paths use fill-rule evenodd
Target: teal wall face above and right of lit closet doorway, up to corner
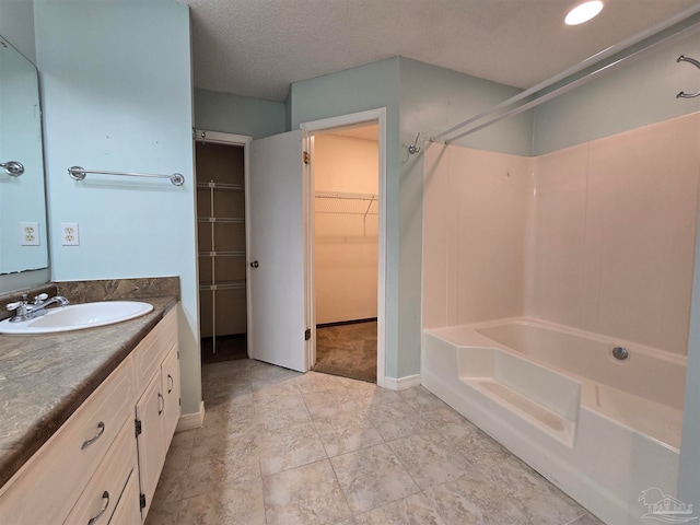
M 398 377 L 399 59 L 390 58 L 292 84 L 291 127 L 386 108 L 386 375 Z

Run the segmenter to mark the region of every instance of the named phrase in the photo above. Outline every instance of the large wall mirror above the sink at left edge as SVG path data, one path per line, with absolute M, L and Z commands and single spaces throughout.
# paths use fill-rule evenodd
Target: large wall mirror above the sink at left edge
M 0 36 L 0 275 L 48 267 L 45 197 L 38 74 Z

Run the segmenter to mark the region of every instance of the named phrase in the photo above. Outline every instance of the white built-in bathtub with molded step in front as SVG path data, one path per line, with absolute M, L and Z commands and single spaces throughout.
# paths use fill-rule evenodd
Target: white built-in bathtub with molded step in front
M 676 493 L 685 381 L 685 358 L 538 319 L 422 335 L 425 388 L 616 525 Z

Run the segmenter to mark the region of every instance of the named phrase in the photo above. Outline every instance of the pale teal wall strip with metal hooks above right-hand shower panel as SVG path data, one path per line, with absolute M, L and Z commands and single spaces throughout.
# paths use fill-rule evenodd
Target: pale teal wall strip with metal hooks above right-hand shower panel
M 676 98 L 700 90 L 700 70 L 677 63 L 700 59 L 700 35 L 625 65 L 534 109 L 533 155 L 661 122 L 700 110 L 700 97 Z

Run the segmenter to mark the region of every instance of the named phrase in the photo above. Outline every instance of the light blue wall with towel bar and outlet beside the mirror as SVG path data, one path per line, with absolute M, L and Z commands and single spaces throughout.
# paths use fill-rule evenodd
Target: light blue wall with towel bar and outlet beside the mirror
M 56 281 L 179 276 L 183 413 L 199 410 L 197 241 L 188 7 L 36 0 L 45 108 L 51 270 Z M 67 168 L 185 176 L 88 175 Z M 61 246 L 78 222 L 80 246 Z

